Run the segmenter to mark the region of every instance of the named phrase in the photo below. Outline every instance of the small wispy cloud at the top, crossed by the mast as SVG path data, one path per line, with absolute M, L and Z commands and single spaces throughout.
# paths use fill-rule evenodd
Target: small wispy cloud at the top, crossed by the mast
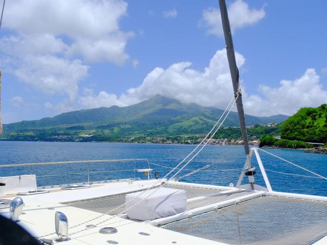
M 265 17 L 264 6 L 261 9 L 251 9 L 243 0 L 236 0 L 228 6 L 228 17 L 231 31 L 255 24 Z M 202 12 L 200 26 L 207 28 L 208 34 L 222 36 L 222 22 L 219 9 L 208 8 Z

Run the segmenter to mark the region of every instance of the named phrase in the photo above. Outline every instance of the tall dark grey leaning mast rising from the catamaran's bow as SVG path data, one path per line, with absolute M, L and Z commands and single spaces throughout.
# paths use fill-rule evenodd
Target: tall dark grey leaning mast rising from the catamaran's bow
M 249 173 L 245 173 L 245 170 L 250 170 L 252 168 L 251 166 L 251 159 L 250 159 L 250 150 L 249 150 L 249 141 L 247 137 L 247 132 L 245 128 L 245 116 L 244 116 L 244 109 L 243 109 L 243 103 L 242 103 L 242 92 L 241 92 L 241 86 L 240 86 L 240 80 L 239 80 L 239 69 L 236 64 L 235 59 L 235 51 L 234 51 L 234 45 L 233 45 L 233 39 L 231 37 L 231 31 L 230 31 L 230 25 L 229 25 L 229 19 L 228 19 L 228 13 L 227 13 L 227 7 L 225 0 L 219 0 L 219 7 L 220 7 L 220 14 L 221 14 L 221 21 L 223 24 L 223 30 L 224 30 L 224 36 L 225 36 L 225 42 L 226 42 L 226 52 L 227 52 L 227 59 L 229 64 L 229 70 L 230 70 L 230 76 L 231 81 L 233 84 L 233 90 L 234 90 L 234 96 L 236 98 L 236 106 L 237 111 L 239 114 L 239 120 L 240 120 L 240 126 L 242 131 L 242 137 L 243 137 L 243 144 L 244 144 L 244 150 L 246 155 L 246 163 L 245 167 L 242 171 L 240 180 L 238 182 L 238 185 L 242 181 L 244 175 L 248 175 Z M 254 185 L 254 169 L 250 171 L 249 176 L 249 182 L 251 184 L 251 187 L 253 188 Z

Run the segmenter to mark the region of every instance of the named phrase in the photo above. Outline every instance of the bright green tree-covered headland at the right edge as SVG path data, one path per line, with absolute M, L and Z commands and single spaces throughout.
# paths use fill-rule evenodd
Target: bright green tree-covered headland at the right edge
M 281 137 L 305 142 L 327 142 L 327 104 L 301 108 L 282 124 Z

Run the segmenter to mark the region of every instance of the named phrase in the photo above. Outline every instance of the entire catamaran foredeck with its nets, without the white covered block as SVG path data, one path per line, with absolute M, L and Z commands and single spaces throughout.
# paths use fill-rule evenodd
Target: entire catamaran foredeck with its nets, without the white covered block
M 277 197 L 278 192 L 257 186 L 256 190 L 249 191 L 170 181 L 165 187 L 184 189 L 188 195 L 185 212 L 148 222 L 130 220 L 126 214 L 104 214 L 124 203 L 127 192 L 145 189 L 154 183 L 156 180 L 106 183 L 85 189 L 54 189 L 49 193 L 24 196 L 25 207 L 18 224 L 36 237 L 54 238 L 54 214 L 61 211 L 67 215 L 70 238 L 62 244 L 327 242 L 324 237 L 327 235 L 326 198 L 312 201 L 306 200 L 312 196 L 290 193 L 284 193 L 287 197 Z M 13 199 L 13 196 L 6 198 Z M 0 213 L 8 216 L 9 210 L 0 209 Z M 118 232 L 99 233 L 100 228 L 108 226 L 115 227 Z

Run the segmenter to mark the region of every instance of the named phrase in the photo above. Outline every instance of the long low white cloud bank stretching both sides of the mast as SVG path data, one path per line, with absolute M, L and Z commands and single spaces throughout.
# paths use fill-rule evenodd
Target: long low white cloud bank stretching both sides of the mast
M 236 53 L 236 60 L 239 68 L 245 63 L 239 53 Z M 183 103 L 224 109 L 233 97 L 226 51 L 218 50 L 203 71 L 191 66 L 191 62 L 179 62 L 167 69 L 156 67 L 141 85 L 119 96 L 106 91 L 94 94 L 93 90 L 87 89 L 79 103 L 85 108 L 128 106 L 161 94 Z M 319 76 L 312 68 L 298 79 L 282 80 L 276 88 L 261 85 L 261 95 L 248 94 L 245 85 L 242 81 L 245 113 L 250 115 L 292 115 L 301 107 L 317 107 L 327 102 L 327 91 L 323 90 Z

